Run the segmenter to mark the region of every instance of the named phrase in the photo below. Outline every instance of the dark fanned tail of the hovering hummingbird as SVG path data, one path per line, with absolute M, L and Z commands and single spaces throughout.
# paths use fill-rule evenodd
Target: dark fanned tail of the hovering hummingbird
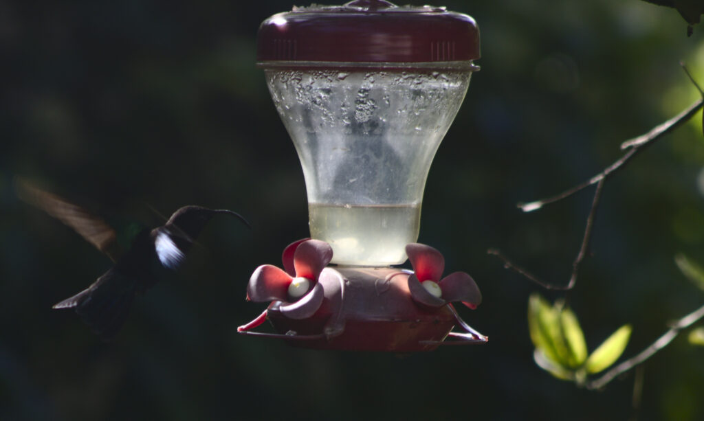
M 109 341 L 127 320 L 135 295 L 134 287 L 115 291 L 107 283 L 96 283 L 52 308 L 75 309 L 96 335 Z

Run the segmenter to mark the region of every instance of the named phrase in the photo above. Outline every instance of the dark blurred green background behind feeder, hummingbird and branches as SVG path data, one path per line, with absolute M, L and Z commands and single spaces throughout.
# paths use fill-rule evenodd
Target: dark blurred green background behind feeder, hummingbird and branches
M 300 164 L 255 67 L 259 23 L 290 1 L 0 1 L 0 419 L 625 420 L 633 375 L 577 389 L 532 361 L 527 297 L 503 252 L 566 283 L 591 193 L 515 206 L 584 181 L 698 98 L 704 27 L 640 0 L 442 1 L 482 30 L 482 71 L 430 171 L 420 241 L 484 293 L 462 314 L 484 346 L 410 356 L 294 349 L 238 336 L 256 266 L 308 235 Z M 299 4 L 303 6 L 304 4 Z M 701 117 L 607 183 L 570 304 L 590 349 L 624 323 L 625 355 L 704 302 L 677 271 L 704 262 Z M 111 263 L 20 202 L 13 177 L 108 219 L 214 219 L 173 283 L 137 299 L 105 344 L 51 305 Z M 163 221 L 161 221 L 163 222 Z M 549 299 L 560 297 L 541 291 Z M 704 349 L 684 337 L 644 365 L 642 420 L 704 419 Z

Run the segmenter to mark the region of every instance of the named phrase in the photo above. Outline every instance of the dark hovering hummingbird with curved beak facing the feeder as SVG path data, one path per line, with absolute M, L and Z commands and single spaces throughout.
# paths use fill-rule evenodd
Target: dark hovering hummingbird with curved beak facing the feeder
M 113 339 L 127 319 L 132 302 L 182 265 L 194 241 L 216 214 L 243 216 L 228 209 L 189 205 L 174 212 L 163 226 L 144 228 L 132 244 L 121 250 L 115 230 L 103 219 L 63 197 L 16 180 L 18 196 L 25 202 L 70 226 L 114 263 L 94 283 L 53 309 L 75 309 L 91 330 L 105 341 Z

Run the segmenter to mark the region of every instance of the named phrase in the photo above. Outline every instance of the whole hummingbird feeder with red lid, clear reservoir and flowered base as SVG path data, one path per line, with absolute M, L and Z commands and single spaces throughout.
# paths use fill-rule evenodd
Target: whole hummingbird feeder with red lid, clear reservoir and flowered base
M 442 254 L 416 242 L 477 58 L 474 20 L 434 6 L 356 0 L 261 24 L 258 66 L 301 160 L 311 238 L 284 250 L 283 269 L 256 269 L 247 297 L 270 304 L 239 332 L 360 351 L 486 342 L 452 304 L 481 302 L 474 280 L 443 277 Z M 391 267 L 406 259 L 413 271 Z M 253 330 L 265 320 L 278 333 Z

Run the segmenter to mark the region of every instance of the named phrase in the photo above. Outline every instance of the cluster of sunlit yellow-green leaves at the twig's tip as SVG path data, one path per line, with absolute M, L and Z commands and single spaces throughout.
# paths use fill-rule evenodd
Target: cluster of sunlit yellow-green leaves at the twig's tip
M 537 293 L 529 299 L 528 327 L 535 346 L 535 362 L 558 379 L 579 385 L 586 382 L 588 375 L 615 363 L 631 337 L 631 325 L 624 325 L 588 356 L 584 332 L 574 312 L 564 301 L 551 306 Z

